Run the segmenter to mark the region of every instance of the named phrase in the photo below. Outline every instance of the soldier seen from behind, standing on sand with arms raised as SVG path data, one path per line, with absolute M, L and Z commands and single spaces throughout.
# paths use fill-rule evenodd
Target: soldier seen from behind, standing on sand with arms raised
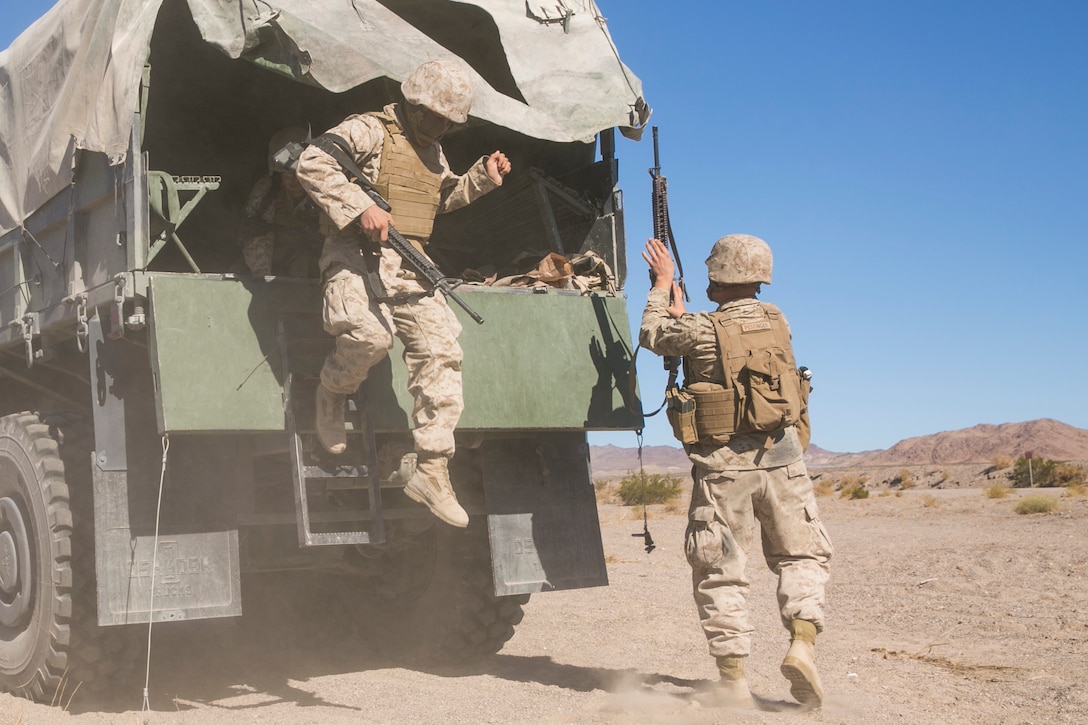
M 658 355 L 683 357 L 683 391 L 695 398 L 683 433 L 694 482 L 684 551 L 721 691 L 733 704 L 754 706 L 744 675 L 753 631 L 744 568 L 754 518 L 791 636 L 781 672 L 799 702 L 818 708 L 824 691 L 814 646 L 833 549 L 802 459 L 807 380 L 794 364 L 786 318 L 756 299 L 761 284 L 770 284 L 770 248 L 747 234 L 717 241 L 706 260 L 714 312 L 685 312 L 665 245 L 650 239 L 643 258 L 654 284 L 639 341 Z

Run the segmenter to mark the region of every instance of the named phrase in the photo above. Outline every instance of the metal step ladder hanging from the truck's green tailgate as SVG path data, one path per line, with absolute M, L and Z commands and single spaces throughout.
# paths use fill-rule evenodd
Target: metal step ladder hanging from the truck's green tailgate
M 320 382 L 312 370 L 316 364 L 320 369 L 331 339 L 317 315 L 281 317 L 277 336 L 298 545 L 383 543 L 381 478 L 366 406 L 349 400 L 347 450 L 338 456 L 326 453 L 317 440 L 314 394 Z

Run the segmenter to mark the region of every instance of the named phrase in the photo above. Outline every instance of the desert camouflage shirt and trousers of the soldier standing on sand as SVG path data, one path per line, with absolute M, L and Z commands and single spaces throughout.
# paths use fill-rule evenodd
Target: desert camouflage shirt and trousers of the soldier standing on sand
M 763 319 L 754 297 L 722 304 L 737 320 Z M 652 288 L 639 341 L 658 355 L 683 356 L 687 382 L 725 383 L 710 316 L 672 318 L 669 291 Z M 778 575 L 782 625 L 805 619 L 824 628 L 824 585 L 833 553 L 819 520 L 804 450 L 792 426 L 767 434 L 740 434 L 722 445 L 685 446 L 691 459 L 691 507 L 684 550 L 700 620 L 713 656 L 746 655 L 752 625 L 744 569 L 755 531 L 762 525 L 763 553 Z

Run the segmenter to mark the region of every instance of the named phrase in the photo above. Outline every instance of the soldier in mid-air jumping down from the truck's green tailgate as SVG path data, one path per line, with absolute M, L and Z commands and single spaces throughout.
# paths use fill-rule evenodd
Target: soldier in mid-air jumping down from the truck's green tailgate
M 405 493 L 447 524 L 465 527 L 468 514 L 457 502 L 448 471 L 454 429 L 465 406 L 457 342 L 461 325 L 445 297 L 428 295 L 384 243 L 392 224 L 422 249 L 435 213 L 463 207 L 500 186 L 510 162 L 495 151 L 463 175 L 450 171 L 440 139 L 453 124 L 465 123 L 472 105 L 472 87 L 457 64 L 423 63 L 400 89 L 404 102 L 348 116 L 329 131 L 346 142 L 351 159 L 388 200 L 392 213 L 375 206 L 320 148 L 307 147 L 298 162 L 302 187 L 324 212 L 323 318 L 325 332 L 336 337 L 318 385 L 318 439 L 330 453 L 344 452 L 346 397 L 385 357 L 396 334 L 405 345 L 408 389 L 415 398 L 417 466 Z M 376 273 L 368 274 L 368 269 Z M 409 302 L 387 300 L 401 296 Z

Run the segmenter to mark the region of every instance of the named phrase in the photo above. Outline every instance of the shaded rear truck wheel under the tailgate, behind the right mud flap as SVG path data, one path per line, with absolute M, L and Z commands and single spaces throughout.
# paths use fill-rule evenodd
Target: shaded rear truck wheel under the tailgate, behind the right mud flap
M 391 642 L 428 663 L 468 662 L 494 654 L 514 637 L 529 594 L 496 597 L 487 529 L 435 524 L 408 552 L 385 562 L 384 609 L 394 617 Z M 381 617 L 388 620 L 387 617 Z

